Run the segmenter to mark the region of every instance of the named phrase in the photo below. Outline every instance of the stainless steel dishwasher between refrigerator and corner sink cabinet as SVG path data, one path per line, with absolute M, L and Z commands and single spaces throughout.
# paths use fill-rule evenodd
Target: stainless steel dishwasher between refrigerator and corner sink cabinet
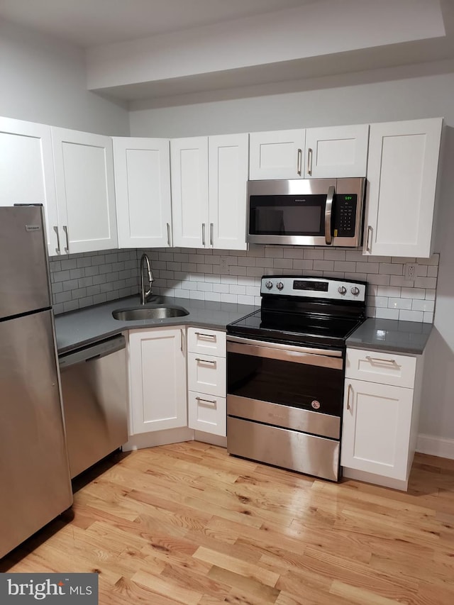
M 124 336 L 59 356 L 71 478 L 128 440 Z

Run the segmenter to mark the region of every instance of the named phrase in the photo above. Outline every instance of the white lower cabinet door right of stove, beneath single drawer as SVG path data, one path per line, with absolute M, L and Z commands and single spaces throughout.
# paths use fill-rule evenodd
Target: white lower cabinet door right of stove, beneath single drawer
M 341 465 L 406 479 L 413 389 L 345 381 Z

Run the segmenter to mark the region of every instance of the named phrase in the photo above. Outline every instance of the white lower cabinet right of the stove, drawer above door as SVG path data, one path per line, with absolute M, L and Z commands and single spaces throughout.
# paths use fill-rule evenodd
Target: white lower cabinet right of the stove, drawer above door
M 421 364 L 417 361 L 407 355 L 347 350 L 344 477 L 407 488 L 419 416 Z

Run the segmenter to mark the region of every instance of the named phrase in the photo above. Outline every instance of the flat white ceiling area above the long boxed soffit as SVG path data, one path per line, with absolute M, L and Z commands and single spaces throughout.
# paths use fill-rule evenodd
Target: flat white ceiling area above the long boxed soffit
M 82 47 L 135 40 L 316 0 L 0 0 L 0 18 Z

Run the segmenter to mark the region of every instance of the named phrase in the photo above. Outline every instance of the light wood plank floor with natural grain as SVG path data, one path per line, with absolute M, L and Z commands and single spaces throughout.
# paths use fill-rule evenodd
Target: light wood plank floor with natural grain
M 97 572 L 113 605 L 454 604 L 454 460 L 416 455 L 407 494 L 197 442 L 114 462 L 0 571 Z

